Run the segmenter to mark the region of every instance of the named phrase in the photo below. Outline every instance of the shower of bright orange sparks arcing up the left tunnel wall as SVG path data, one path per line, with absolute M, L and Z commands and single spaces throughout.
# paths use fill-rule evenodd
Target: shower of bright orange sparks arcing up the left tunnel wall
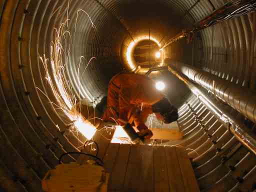
M 81 9 L 79 9 L 78 11 L 81 11 Z M 78 15 L 78 11 L 77 11 L 77 15 Z M 87 139 L 91 139 L 94 133 L 96 132 L 96 128 L 87 119 L 85 119 L 85 117 L 78 111 L 80 107 L 76 106 L 76 103 L 77 103 L 76 97 L 72 91 L 70 82 L 66 79 L 66 76 L 65 76 L 64 68 L 65 68 L 65 65 L 67 64 L 68 56 L 70 54 L 69 53 L 70 48 L 67 47 L 68 43 L 67 43 L 67 37 L 65 35 L 66 33 L 68 34 L 68 38 L 71 40 L 70 32 L 67 30 L 64 30 L 64 25 L 65 24 L 67 25 L 67 21 L 68 21 L 68 18 L 64 23 L 60 25 L 58 29 L 54 28 L 55 34 L 54 34 L 54 40 L 51 42 L 50 58 L 47 59 L 45 55 L 40 56 L 40 60 L 42 61 L 45 72 L 46 72 L 45 79 L 47 80 L 53 92 L 53 95 L 56 98 L 57 103 L 52 102 L 49 99 L 49 97 L 43 91 L 41 91 L 38 87 L 37 89 L 39 89 L 39 91 L 41 91 L 49 99 L 49 101 L 55 106 L 55 109 L 61 110 L 70 119 L 71 121 L 70 127 L 72 127 L 72 131 L 79 131 Z M 93 23 L 92 23 L 92 26 L 95 27 Z M 65 42 L 63 45 L 61 44 L 62 41 Z M 83 56 L 80 57 L 80 62 L 82 58 L 84 57 Z M 92 57 L 89 60 L 89 62 L 93 58 L 95 57 Z M 80 67 L 80 62 L 78 65 L 78 71 Z M 88 66 L 89 62 L 87 63 L 86 67 Z M 86 70 L 86 67 L 84 71 Z M 80 87 L 78 87 L 78 89 L 80 89 Z

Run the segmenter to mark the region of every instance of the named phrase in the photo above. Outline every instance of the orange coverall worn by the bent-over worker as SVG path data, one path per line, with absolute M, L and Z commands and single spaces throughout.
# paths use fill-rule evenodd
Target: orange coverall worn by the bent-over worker
M 146 129 L 144 122 L 152 113 L 152 104 L 162 98 L 163 94 L 156 90 L 155 83 L 149 77 L 135 73 L 117 74 L 108 84 L 107 108 L 103 119 L 122 119 L 134 123 L 139 131 Z

